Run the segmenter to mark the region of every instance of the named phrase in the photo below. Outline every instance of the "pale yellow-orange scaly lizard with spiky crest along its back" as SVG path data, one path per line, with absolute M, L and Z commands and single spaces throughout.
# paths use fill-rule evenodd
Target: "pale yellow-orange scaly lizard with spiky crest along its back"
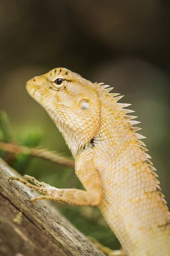
M 170 255 L 170 212 L 156 169 L 137 131 L 131 104 L 104 83 L 92 83 L 66 68 L 55 68 L 26 83 L 26 89 L 51 116 L 75 159 L 85 190 L 57 189 L 34 177 L 11 177 L 47 199 L 97 206 L 126 256 Z M 28 181 L 34 183 L 32 185 Z M 111 255 L 117 255 L 114 252 Z

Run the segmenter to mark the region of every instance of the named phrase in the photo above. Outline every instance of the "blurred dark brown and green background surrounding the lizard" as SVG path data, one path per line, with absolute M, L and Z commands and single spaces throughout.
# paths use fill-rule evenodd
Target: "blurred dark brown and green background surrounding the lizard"
M 170 205 L 170 2 L 0 1 L 0 110 L 8 114 L 12 139 L 31 145 L 42 136 L 42 148 L 70 156 L 25 89 L 28 79 L 54 67 L 110 84 L 125 95 L 121 102 L 132 103 Z M 59 165 L 34 159 L 15 167 L 58 188 L 82 187 L 73 170 Z M 119 248 L 97 208 L 55 205 L 83 233 Z

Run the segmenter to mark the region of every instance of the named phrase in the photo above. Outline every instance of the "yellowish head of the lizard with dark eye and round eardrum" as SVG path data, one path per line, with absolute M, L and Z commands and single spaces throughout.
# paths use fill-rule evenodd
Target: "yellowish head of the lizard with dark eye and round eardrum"
M 85 145 L 99 129 L 96 84 L 65 68 L 55 68 L 26 83 L 28 93 L 48 112 L 69 140 Z M 75 142 L 76 140 L 76 142 Z

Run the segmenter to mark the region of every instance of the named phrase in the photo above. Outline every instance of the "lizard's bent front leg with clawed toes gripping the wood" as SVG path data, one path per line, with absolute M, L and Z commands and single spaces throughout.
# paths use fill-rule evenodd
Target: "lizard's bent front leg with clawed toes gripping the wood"
M 45 194 L 32 198 L 31 203 L 37 200 L 47 199 L 81 206 L 98 206 L 102 202 L 102 185 L 98 172 L 91 163 L 88 163 L 83 169 L 79 170 L 79 174 L 83 174 L 80 177 L 86 191 L 80 189 L 57 189 L 48 184 L 41 183 L 34 177 L 28 175 L 25 175 L 23 177 L 24 179 L 11 177 L 9 182 L 11 183 L 12 180 L 17 180 L 31 189 Z M 35 185 L 32 185 L 26 180 L 33 182 Z

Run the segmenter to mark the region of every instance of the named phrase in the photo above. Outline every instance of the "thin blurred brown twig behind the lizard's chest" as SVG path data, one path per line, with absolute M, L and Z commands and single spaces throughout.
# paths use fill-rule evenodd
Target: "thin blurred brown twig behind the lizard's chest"
M 63 166 L 69 166 L 74 168 L 74 160 L 69 159 L 68 157 L 60 156 L 51 151 L 39 148 L 27 148 L 13 143 L 3 143 L 0 142 L 0 149 L 8 151 L 14 154 L 30 154 L 32 157 L 38 157 L 41 159 L 48 160 L 50 162 L 59 163 Z

